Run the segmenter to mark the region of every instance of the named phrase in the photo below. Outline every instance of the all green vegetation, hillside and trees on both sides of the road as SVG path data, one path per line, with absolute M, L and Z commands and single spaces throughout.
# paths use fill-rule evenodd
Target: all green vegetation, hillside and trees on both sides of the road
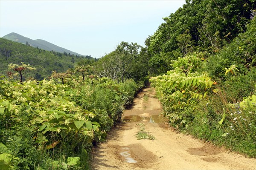
M 172 127 L 256 158 L 255 15 L 255 0 L 186 0 L 145 47 L 97 61 L 1 38 L 1 167 L 90 168 L 148 81 Z

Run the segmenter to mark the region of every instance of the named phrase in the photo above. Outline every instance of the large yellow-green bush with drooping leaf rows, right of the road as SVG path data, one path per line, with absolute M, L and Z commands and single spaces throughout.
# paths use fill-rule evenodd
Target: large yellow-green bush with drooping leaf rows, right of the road
M 201 63 L 200 54 L 178 58 L 172 61 L 173 70 L 150 79 L 156 87 L 165 115 L 175 127 L 187 126 L 186 121 L 191 118 L 190 114 L 186 114 L 189 107 L 204 98 L 215 84 L 207 73 L 197 72 Z

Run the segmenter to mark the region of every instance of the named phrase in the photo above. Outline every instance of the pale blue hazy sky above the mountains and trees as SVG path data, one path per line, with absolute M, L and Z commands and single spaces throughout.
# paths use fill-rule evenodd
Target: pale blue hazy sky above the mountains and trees
M 100 58 L 122 42 L 144 46 L 185 0 L 0 0 L 0 37 L 11 32 Z

